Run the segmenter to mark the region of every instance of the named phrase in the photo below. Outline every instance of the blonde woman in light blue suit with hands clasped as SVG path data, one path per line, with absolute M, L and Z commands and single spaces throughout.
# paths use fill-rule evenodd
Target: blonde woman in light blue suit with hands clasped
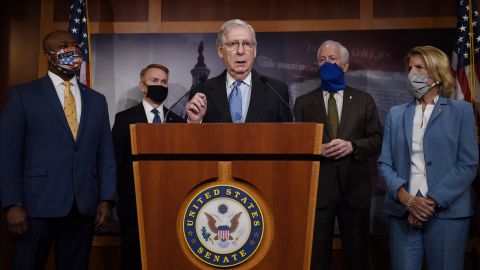
M 385 120 L 378 170 L 387 194 L 393 269 L 463 269 L 478 165 L 472 106 L 451 96 L 448 57 L 431 46 L 406 57 L 411 102 Z

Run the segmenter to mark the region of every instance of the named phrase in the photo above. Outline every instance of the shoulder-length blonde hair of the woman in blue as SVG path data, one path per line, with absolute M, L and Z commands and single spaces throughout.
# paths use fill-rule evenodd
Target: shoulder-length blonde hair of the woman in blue
M 405 69 L 408 73 L 410 58 L 420 55 L 425 62 L 428 74 L 437 82 L 440 82 L 438 94 L 444 97 L 451 97 L 455 87 L 455 78 L 448 56 L 433 46 L 417 46 L 411 49 L 405 57 Z

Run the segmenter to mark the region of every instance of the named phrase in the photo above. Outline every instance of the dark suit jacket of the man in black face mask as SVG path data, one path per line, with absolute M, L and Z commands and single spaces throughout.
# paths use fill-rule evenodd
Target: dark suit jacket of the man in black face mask
M 164 114 L 167 109 L 163 108 Z M 185 123 L 185 119 L 173 112 L 168 114 L 166 122 Z M 135 186 L 133 180 L 132 149 L 130 144 L 130 124 L 147 123 L 143 104 L 119 112 L 115 115 L 112 128 L 115 157 L 117 160 L 118 211 L 120 218 L 136 218 Z

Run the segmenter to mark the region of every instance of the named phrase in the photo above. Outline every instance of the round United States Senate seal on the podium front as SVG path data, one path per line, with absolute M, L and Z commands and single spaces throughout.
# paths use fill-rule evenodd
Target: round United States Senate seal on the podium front
M 210 186 L 188 204 L 183 234 L 188 248 L 206 264 L 231 267 L 246 262 L 264 233 L 260 206 L 233 185 Z

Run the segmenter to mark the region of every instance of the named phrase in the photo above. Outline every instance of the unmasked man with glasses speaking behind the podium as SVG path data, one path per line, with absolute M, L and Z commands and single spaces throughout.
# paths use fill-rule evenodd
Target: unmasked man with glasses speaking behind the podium
M 247 22 L 234 19 L 222 25 L 217 52 L 226 70 L 192 91 L 196 94 L 185 106 L 189 123 L 292 121 L 287 85 L 252 69 L 256 45 L 255 30 Z

